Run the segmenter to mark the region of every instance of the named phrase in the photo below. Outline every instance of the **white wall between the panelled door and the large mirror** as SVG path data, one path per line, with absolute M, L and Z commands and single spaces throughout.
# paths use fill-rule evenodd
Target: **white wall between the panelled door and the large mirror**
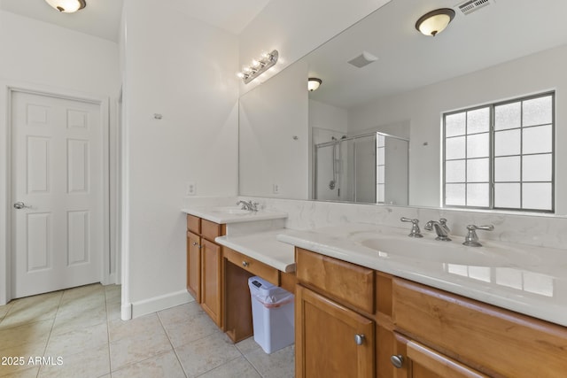
M 237 192 L 237 37 L 170 4 L 126 0 L 122 316 L 189 300 L 187 182 Z M 162 115 L 154 119 L 154 113 Z

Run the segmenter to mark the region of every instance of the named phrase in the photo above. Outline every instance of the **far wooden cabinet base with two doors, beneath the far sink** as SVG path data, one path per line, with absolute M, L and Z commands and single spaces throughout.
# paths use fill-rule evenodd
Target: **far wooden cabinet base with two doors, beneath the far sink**
M 187 290 L 222 328 L 222 251 L 214 238 L 226 225 L 187 215 Z

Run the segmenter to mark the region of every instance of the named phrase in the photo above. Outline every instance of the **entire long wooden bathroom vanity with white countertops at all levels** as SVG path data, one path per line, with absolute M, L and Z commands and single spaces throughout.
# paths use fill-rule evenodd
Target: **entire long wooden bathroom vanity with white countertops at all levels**
M 214 249 L 202 227 L 211 217 L 201 215 L 209 219 L 200 218 L 200 235 L 188 233 L 188 288 L 200 282 L 206 311 L 206 290 L 217 295 L 211 316 L 221 314 L 215 321 L 235 342 L 252 336 L 250 276 L 294 292 L 297 377 L 567 371 L 563 250 L 494 241 L 465 247 L 456 240 L 462 236 L 447 243 L 431 234 L 410 238 L 406 228 L 352 223 L 310 230 L 258 223 L 244 232 L 222 220 Z M 200 269 L 191 267 L 198 265 L 190 254 L 196 236 L 205 243 Z M 206 283 L 207 251 L 216 253 L 214 283 Z M 200 281 L 190 276 L 195 270 Z

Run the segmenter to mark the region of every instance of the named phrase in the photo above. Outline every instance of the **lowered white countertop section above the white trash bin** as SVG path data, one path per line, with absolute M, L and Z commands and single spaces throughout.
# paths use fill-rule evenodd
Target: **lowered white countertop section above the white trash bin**
M 289 273 L 295 272 L 294 247 L 276 240 L 276 235 L 285 235 L 288 231 L 290 230 L 281 228 L 251 235 L 226 235 L 219 236 L 214 241 Z

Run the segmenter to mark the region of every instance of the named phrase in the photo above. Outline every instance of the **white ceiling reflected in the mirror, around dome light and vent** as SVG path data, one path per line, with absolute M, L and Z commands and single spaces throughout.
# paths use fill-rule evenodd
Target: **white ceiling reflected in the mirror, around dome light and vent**
M 491 0 L 468 15 L 459 11 L 462 3 L 385 4 L 304 58 L 309 76 L 322 79 L 309 97 L 348 109 L 567 43 L 565 0 Z M 435 37 L 421 35 L 416 20 L 443 7 L 456 12 L 447 29 Z M 377 61 L 362 68 L 347 63 L 362 51 Z

